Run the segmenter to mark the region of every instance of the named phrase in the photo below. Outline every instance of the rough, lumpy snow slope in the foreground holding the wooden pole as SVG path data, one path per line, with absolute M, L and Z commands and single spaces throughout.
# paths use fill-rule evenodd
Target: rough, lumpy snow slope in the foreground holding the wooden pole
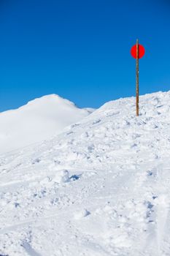
M 170 91 L 1 154 L 0 255 L 170 255 Z

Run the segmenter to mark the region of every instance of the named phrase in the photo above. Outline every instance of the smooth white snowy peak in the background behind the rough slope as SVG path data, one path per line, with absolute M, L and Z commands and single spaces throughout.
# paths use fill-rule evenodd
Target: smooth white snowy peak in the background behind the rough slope
M 0 113 L 0 154 L 50 138 L 92 111 L 51 94 Z

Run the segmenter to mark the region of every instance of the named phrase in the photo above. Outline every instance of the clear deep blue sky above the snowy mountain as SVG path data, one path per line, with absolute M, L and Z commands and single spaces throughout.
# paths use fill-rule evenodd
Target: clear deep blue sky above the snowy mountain
M 0 0 L 0 111 L 45 94 L 80 107 L 170 89 L 168 0 Z

